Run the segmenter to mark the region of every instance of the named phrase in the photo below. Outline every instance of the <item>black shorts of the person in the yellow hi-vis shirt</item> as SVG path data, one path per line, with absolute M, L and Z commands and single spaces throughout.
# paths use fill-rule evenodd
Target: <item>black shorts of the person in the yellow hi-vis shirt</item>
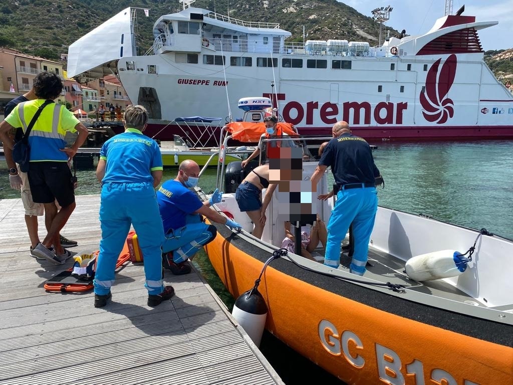
M 75 201 L 68 162 L 30 162 L 28 177 L 34 202 L 57 200 L 61 207 L 66 207 Z

